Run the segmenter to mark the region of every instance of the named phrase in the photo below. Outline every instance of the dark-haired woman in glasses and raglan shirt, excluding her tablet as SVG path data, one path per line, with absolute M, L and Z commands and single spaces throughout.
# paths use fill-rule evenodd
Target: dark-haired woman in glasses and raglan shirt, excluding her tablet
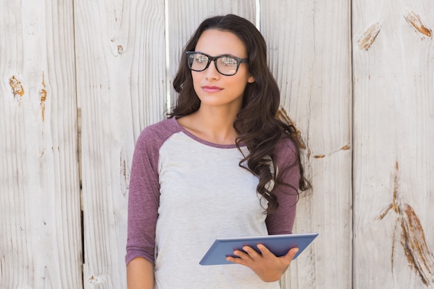
M 141 132 L 128 205 L 128 288 L 280 288 L 297 252 L 235 251 L 201 266 L 218 237 L 290 234 L 303 176 L 295 128 L 276 118 L 266 43 L 236 15 L 205 19 L 173 82 L 177 105 Z

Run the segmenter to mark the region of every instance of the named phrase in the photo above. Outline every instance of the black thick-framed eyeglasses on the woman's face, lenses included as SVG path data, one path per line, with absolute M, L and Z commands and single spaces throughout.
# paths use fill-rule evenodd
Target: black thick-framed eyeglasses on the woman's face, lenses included
M 234 76 L 241 63 L 248 63 L 248 58 L 236 58 L 231 55 L 209 56 L 202 52 L 187 51 L 187 60 L 189 62 L 189 68 L 193 71 L 204 71 L 209 67 L 211 61 L 214 61 L 214 65 L 218 73 L 224 76 Z

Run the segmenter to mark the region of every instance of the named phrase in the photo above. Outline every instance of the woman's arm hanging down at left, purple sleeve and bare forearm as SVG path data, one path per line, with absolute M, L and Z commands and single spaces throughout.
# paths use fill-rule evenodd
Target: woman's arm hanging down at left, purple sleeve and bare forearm
M 132 159 L 128 194 L 128 240 L 125 262 L 128 289 L 153 289 L 155 225 L 159 204 L 157 149 L 141 134 Z

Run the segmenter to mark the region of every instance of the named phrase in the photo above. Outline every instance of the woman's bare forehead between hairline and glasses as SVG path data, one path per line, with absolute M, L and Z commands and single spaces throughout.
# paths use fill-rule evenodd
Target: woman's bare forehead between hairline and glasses
M 211 56 L 229 54 L 239 58 L 247 58 L 244 43 L 232 32 L 218 29 L 205 30 L 199 37 L 195 51 Z

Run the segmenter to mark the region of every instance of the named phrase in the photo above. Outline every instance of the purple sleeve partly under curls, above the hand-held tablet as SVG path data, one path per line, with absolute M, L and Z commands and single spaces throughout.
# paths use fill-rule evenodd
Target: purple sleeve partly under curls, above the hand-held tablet
M 297 163 L 295 145 L 290 139 L 282 139 L 275 150 L 277 173 L 281 181 L 274 193 L 277 195 L 279 208 L 268 214 L 266 224 L 268 234 L 291 234 L 295 220 L 295 204 L 300 180 L 300 166 Z

